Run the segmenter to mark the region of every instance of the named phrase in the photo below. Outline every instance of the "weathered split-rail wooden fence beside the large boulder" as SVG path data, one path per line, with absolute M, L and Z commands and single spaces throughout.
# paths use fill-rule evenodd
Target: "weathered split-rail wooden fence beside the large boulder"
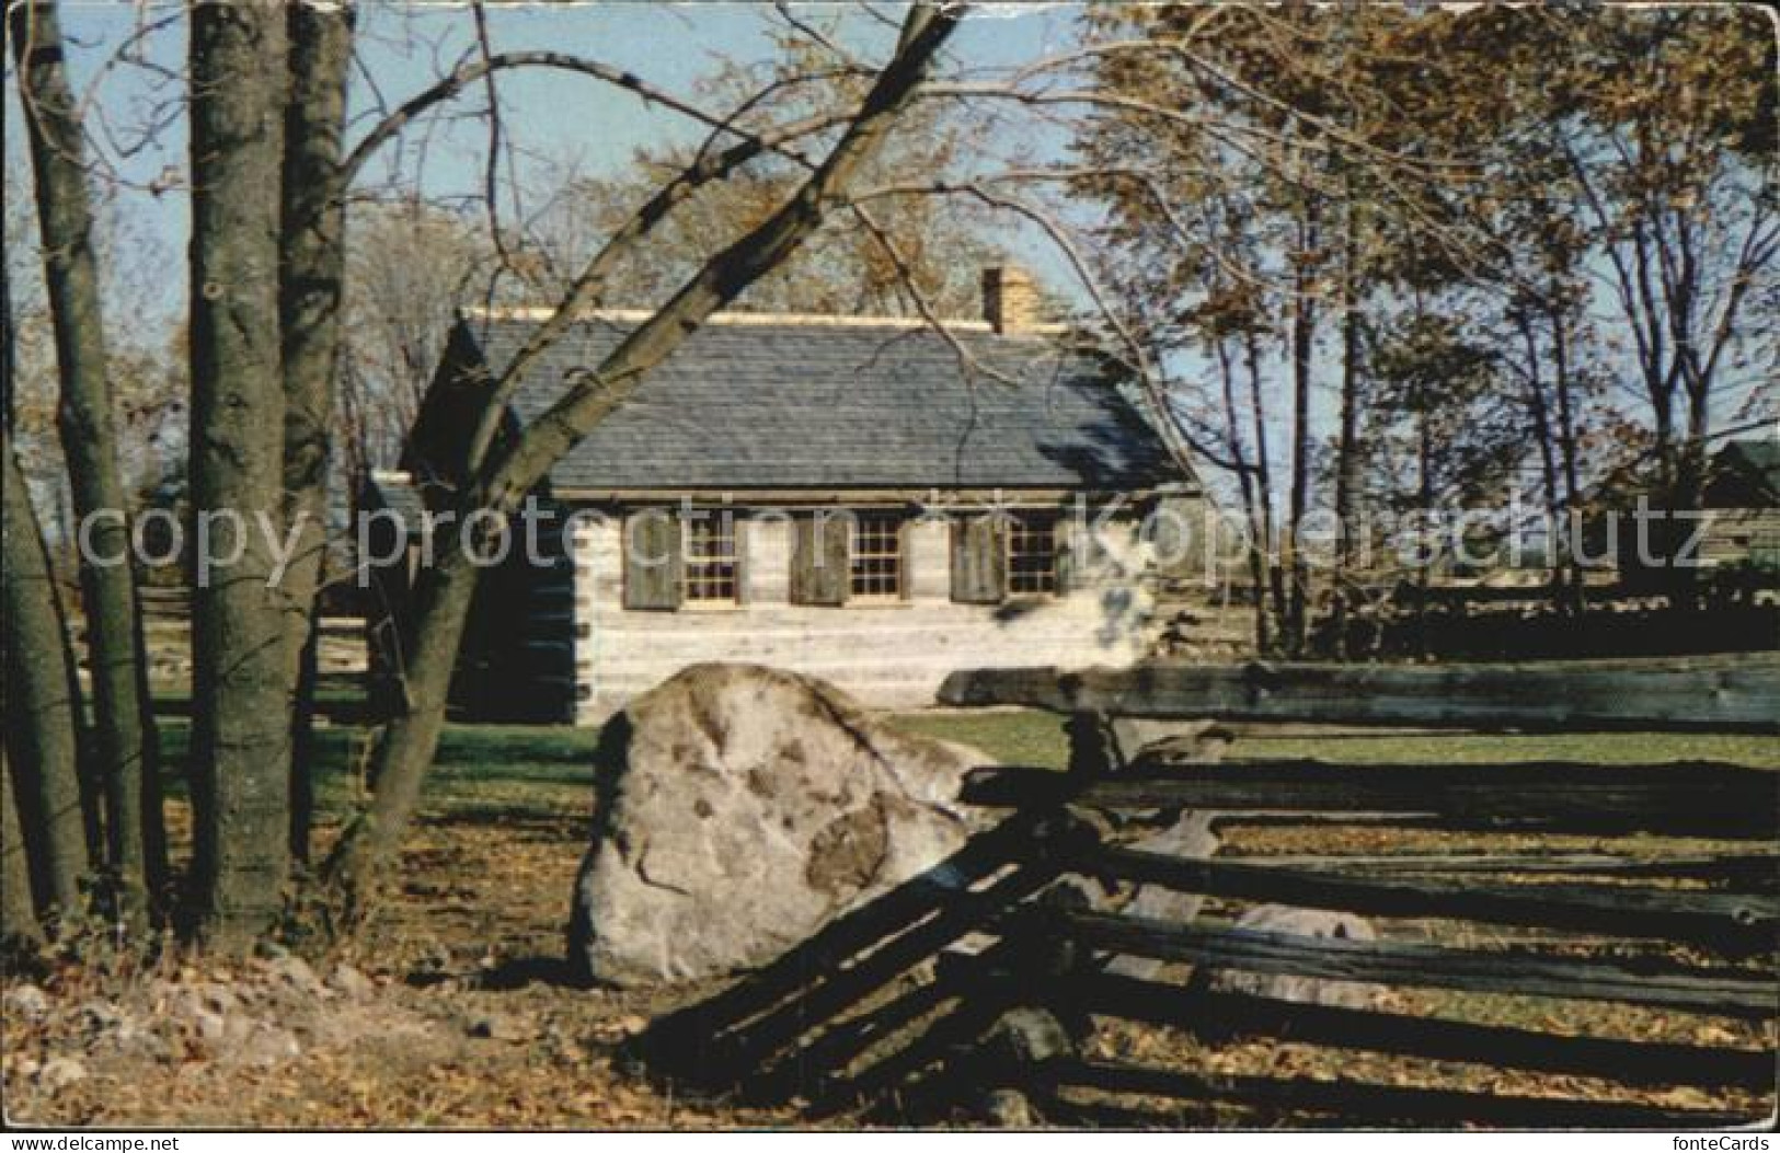
M 1780 730 L 1780 658 L 1513 669 L 1013 669 L 961 674 L 947 696 L 1182 719 Z M 1127 760 L 1109 715 L 1073 712 L 1066 728 L 1066 772 L 970 774 L 965 801 L 1013 810 L 1000 826 L 664 1018 L 637 1053 L 682 1085 L 895 1123 L 959 1109 L 981 1117 L 995 1091 L 1034 1110 L 1015 1121 L 1139 1126 L 1686 1128 L 1775 1109 L 1780 772 L 1716 762 L 1205 763 L 1191 742 Z M 1146 840 L 1191 813 L 1226 831 L 1299 826 L 1283 842 L 1294 851 L 1189 858 Z M 1367 827 L 1365 852 L 1303 852 L 1349 824 Z M 1417 840 L 1378 851 L 1397 831 Z M 1216 902 L 1209 915 L 1200 899 Z M 1235 909 L 1262 904 L 1381 927 L 1378 939 L 1344 939 L 1232 923 Z M 1141 964 L 1134 973 L 1125 961 Z M 1219 973 L 1392 995 L 1365 1007 L 1307 1004 Z M 1545 1009 L 1524 1023 L 1474 1020 L 1465 1005 L 1477 998 L 1545 1005 L 1570 1023 L 1536 1027 L 1552 1020 Z M 1668 1036 L 1618 1034 L 1600 1005 L 1664 1021 Z M 1340 1060 L 1335 1080 L 1139 1066 L 1095 1048 L 1109 1021 L 1180 1030 L 1203 1046 L 1274 1039 L 1381 1053 L 1436 1080 L 1452 1062 L 1518 1080 L 1502 1093 L 1465 1080 L 1376 1084 Z M 1679 1087 L 1703 1096 L 1689 1107 L 1634 1096 Z

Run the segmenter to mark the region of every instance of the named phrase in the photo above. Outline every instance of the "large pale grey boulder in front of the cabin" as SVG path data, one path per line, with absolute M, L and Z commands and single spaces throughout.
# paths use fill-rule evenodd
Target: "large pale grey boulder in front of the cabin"
M 974 831 L 988 763 L 901 733 L 810 676 L 680 671 L 607 722 L 570 963 L 611 984 L 760 966 L 926 872 Z

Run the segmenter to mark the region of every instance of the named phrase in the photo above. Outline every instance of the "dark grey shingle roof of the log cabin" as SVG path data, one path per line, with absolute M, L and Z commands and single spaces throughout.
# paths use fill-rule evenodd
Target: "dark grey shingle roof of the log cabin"
M 534 322 L 465 324 L 498 374 Z M 578 324 L 522 381 L 516 416 L 534 420 L 627 331 L 625 320 Z M 958 340 L 1018 384 L 970 381 L 924 327 L 708 324 L 552 470 L 552 484 L 1127 491 L 1187 480 L 1091 359 L 1043 338 Z

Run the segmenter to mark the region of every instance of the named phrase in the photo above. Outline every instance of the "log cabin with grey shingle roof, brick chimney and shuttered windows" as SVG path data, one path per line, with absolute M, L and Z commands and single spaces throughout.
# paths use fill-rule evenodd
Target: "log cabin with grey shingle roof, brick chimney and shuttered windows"
M 452 687 L 465 719 L 598 724 L 680 667 L 746 660 L 863 703 L 934 703 L 959 667 L 1123 665 L 1157 632 L 1152 514 L 1202 488 L 1104 361 L 1034 322 L 1018 269 L 984 317 L 719 313 L 529 502 L 538 548 L 484 573 Z M 548 311 L 463 313 L 399 472 L 361 505 L 399 683 L 425 518 Z M 518 383 L 513 436 L 646 313 L 578 320 Z M 379 516 L 372 516 L 379 514 Z M 1146 521 L 1148 518 L 1148 521 Z M 518 536 L 518 534 L 514 534 Z

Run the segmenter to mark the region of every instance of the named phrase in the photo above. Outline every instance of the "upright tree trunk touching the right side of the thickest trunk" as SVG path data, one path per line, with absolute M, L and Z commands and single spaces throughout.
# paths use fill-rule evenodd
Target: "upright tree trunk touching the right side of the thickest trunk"
M 328 552 L 328 425 L 340 359 L 345 267 L 345 71 L 351 7 L 288 9 L 290 103 L 285 114 L 279 324 L 285 388 L 285 523 L 297 552 L 279 585 L 285 685 L 290 687 L 290 854 L 308 859 L 313 806 L 315 594 Z

